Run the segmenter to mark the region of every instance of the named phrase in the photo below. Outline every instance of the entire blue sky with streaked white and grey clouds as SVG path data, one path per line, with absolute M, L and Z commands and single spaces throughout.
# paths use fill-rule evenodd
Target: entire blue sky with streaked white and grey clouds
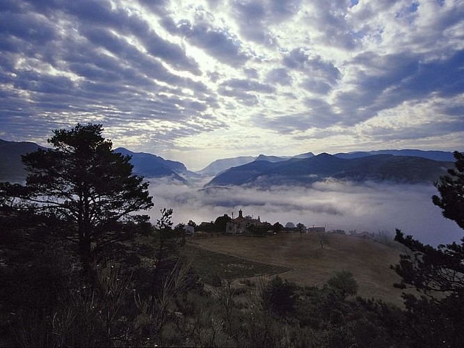
M 0 138 L 99 122 L 200 169 L 463 150 L 463 0 L 1 0 Z

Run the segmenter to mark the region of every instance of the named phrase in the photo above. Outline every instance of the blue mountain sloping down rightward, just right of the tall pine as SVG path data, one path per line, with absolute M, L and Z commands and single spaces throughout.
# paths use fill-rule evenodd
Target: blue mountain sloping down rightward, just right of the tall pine
M 147 178 L 172 177 L 174 180 L 186 183 L 186 179 L 182 177 L 182 175 L 191 174 L 181 162 L 163 159 L 163 157 L 157 155 L 146 152 L 132 152 L 126 148 L 116 148 L 114 152 L 131 156 L 131 164 L 134 166 L 134 173 L 143 175 Z

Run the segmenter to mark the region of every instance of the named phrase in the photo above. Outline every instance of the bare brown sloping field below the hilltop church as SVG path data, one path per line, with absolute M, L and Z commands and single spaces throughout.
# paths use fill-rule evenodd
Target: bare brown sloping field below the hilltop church
M 328 234 L 327 237 L 328 244 L 323 248 L 316 234 L 300 237 L 298 233 L 267 238 L 211 237 L 197 239 L 195 243 L 198 246 L 189 248 L 200 247 L 197 262 L 203 264 L 205 270 L 216 269 L 217 274 L 224 274 L 223 278 L 275 273 L 278 267 L 282 267 L 289 269 L 282 274 L 282 278 L 303 286 L 321 285 L 335 271 L 346 270 L 353 273 L 361 296 L 383 299 L 397 305 L 403 303 L 401 290 L 393 287 L 394 283 L 399 282 L 399 276 L 390 269 L 390 264 L 397 264 L 399 254 L 404 252 L 399 244 L 387 246 L 344 235 Z M 216 254 L 211 255 L 207 251 Z M 231 256 L 239 260 L 230 259 Z M 245 260 L 257 264 L 247 264 Z

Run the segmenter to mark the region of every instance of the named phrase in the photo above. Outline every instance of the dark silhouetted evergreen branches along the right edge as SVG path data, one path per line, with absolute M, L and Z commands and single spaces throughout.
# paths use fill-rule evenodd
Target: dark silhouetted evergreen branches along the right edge
M 447 219 L 464 228 L 464 154 L 454 152 L 456 168 L 435 182 L 440 197 L 433 203 Z M 464 238 L 433 248 L 404 236 L 397 230 L 397 242 L 410 253 L 401 255 L 394 270 L 401 276 L 397 287 L 413 288 L 419 293 L 403 295 L 417 345 L 459 347 L 464 340 Z

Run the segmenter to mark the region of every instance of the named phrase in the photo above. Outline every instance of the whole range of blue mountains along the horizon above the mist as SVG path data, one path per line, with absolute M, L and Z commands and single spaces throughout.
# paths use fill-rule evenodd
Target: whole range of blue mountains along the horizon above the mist
M 22 182 L 26 171 L 21 155 L 42 148 L 31 142 L 0 139 L 0 181 Z M 433 182 L 453 166 L 451 152 L 422 150 L 380 150 L 314 156 L 307 152 L 294 157 L 259 155 L 218 159 L 193 173 L 179 161 L 170 161 L 145 152 L 116 148 L 131 156 L 134 173 L 144 177 L 170 177 L 184 184 L 201 177 L 214 179 L 213 186 L 270 186 L 307 184 L 327 177 L 343 180 L 391 180 L 397 182 Z

